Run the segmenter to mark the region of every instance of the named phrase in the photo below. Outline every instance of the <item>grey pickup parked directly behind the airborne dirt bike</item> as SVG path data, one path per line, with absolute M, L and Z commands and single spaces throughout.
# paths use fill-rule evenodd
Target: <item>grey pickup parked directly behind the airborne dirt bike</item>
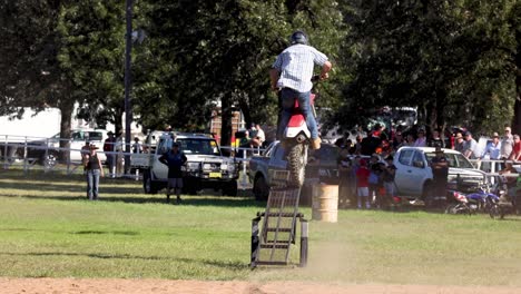
M 305 177 L 318 179 L 322 183 L 338 183 L 337 173 L 338 147 L 333 144 L 322 144 L 321 149 L 309 153 Z M 277 170 L 286 170 L 285 150 L 279 141 L 272 143 L 262 155 L 253 156 L 248 165 L 248 178 L 253 184 L 255 199 L 266 200 L 269 189 L 278 185 L 274 180 Z

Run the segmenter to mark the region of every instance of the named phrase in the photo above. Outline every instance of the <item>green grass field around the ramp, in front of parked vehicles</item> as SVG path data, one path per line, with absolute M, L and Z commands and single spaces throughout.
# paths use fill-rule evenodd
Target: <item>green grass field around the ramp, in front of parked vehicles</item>
M 265 204 L 184 199 L 104 178 L 88 202 L 82 177 L 1 169 L 0 276 L 521 285 L 519 216 L 340 210 L 336 224 L 309 223 L 306 268 L 252 271 L 250 223 Z

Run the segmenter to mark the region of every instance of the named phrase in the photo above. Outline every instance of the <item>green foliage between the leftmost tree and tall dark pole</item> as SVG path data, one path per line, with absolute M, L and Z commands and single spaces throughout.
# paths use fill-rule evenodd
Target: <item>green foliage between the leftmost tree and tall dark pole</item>
M 88 109 L 82 118 L 101 125 L 115 122 L 124 107 L 124 4 L 100 0 L 77 1 L 59 13 L 57 59 L 76 89 L 72 96 Z

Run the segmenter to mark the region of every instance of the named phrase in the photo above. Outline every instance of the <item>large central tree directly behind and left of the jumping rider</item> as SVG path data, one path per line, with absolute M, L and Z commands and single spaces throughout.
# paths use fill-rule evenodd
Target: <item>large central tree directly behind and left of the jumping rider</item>
M 167 114 L 178 127 L 201 124 L 209 117 L 203 110 L 220 99 L 223 144 L 229 144 L 233 107 L 242 109 L 248 124 L 275 121 L 267 70 L 293 30 L 305 29 L 333 58 L 343 36 L 335 2 L 324 0 L 155 1 L 149 19 L 160 65 L 155 84 L 164 86 L 146 99 L 161 109 L 155 116 Z

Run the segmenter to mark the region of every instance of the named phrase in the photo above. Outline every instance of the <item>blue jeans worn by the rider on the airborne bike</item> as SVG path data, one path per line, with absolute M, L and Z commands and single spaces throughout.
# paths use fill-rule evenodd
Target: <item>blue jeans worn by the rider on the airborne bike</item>
M 282 89 L 282 114 L 281 122 L 277 128 L 277 139 L 282 139 L 284 137 L 284 130 L 289 122 L 289 118 L 293 114 L 293 107 L 295 106 L 295 98 L 298 99 L 298 108 L 306 119 L 306 125 L 309 129 L 312 139 L 318 138 L 318 128 L 316 127 L 316 120 L 311 109 L 309 96 L 309 91 L 298 92 L 289 88 Z

